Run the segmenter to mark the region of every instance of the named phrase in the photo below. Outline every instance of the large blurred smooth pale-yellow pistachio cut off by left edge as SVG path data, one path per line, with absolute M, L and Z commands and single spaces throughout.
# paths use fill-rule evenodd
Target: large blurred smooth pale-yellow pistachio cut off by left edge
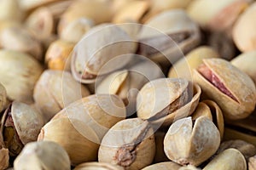
M 33 88 L 42 72 L 42 66 L 30 55 L 0 50 L 0 82 L 10 100 L 32 103 Z

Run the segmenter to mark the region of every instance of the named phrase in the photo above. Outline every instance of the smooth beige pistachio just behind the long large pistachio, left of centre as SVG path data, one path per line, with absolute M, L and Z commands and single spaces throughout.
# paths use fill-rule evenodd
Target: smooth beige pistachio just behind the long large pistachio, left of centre
M 76 82 L 71 73 L 46 70 L 35 86 L 33 98 L 44 121 L 49 122 L 64 107 L 88 95 L 89 90 Z

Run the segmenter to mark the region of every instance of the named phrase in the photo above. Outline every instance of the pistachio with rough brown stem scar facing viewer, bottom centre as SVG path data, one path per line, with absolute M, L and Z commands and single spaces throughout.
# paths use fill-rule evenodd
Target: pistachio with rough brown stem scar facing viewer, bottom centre
M 140 118 L 125 119 L 111 127 L 102 139 L 98 159 L 125 167 L 142 169 L 154 160 L 154 131 Z

